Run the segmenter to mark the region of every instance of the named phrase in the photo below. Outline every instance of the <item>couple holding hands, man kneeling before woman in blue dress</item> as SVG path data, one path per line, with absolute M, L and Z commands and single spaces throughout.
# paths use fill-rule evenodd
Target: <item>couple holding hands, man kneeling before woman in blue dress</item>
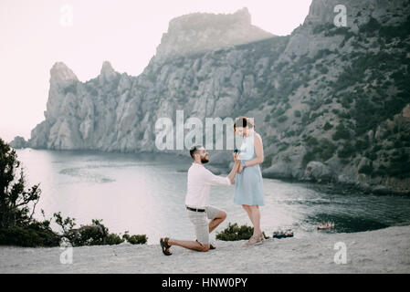
M 264 159 L 262 139 L 255 131 L 253 120 L 247 117 L 235 120 L 234 132 L 243 137 L 243 141 L 240 151 L 233 153 L 235 163 L 226 177 L 217 176 L 205 168 L 204 164 L 209 162 L 209 157 L 203 146 L 197 145 L 190 150 L 194 162 L 188 170 L 185 207 L 188 218 L 194 224 L 196 240 L 161 238 L 164 255 L 172 255 L 172 245 L 201 252 L 215 248 L 209 242 L 209 234 L 226 219 L 226 212 L 208 204 L 211 185 L 235 184 L 234 203 L 242 205 L 254 226 L 254 234 L 244 246 L 262 244 L 264 237 L 260 229 L 259 211 L 259 206 L 265 204 L 259 167 Z

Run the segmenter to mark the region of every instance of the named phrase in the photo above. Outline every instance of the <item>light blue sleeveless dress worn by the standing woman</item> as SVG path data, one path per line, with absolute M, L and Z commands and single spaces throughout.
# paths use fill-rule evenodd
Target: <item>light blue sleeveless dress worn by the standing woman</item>
M 240 148 L 242 162 L 248 162 L 257 157 L 254 146 L 254 135 L 245 137 Z M 262 172 L 259 164 L 245 167 L 235 177 L 234 203 L 259 205 L 265 204 L 263 194 Z

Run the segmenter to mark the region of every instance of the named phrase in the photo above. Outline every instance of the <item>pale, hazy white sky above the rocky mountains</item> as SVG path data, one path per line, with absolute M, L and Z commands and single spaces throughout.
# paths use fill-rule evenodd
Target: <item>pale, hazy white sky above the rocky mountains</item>
M 0 138 L 30 138 L 44 120 L 50 69 L 64 62 L 80 81 L 105 60 L 120 73 L 142 73 L 169 21 L 194 12 L 235 13 L 286 36 L 303 23 L 311 0 L 0 0 Z

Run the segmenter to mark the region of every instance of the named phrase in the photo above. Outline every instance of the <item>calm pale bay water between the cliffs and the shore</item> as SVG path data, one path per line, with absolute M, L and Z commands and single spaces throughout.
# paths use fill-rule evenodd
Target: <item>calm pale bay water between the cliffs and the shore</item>
M 31 149 L 17 151 L 17 155 L 30 185 L 40 183 L 37 218 L 42 218 L 43 209 L 47 218 L 60 211 L 76 218 L 78 226 L 103 219 L 110 232 L 145 234 L 149 244 L 157 244 L 165 235 L 194 239 L 184 210 L 189 157 Z M 325 220 L 335 222 L 333 232 L 410 224 L 408 196 L 329 191 L 322 185 L 271 179 L 263 183 L 266 205 L 261 207 L 261 224 L 269 236 L 289 227 L 297 237 L 310 236 Z M 233 196 L 233 187 L 211 189 L 210 203 L 228 214 L 216 231 L 228 222 L 250 225 Z

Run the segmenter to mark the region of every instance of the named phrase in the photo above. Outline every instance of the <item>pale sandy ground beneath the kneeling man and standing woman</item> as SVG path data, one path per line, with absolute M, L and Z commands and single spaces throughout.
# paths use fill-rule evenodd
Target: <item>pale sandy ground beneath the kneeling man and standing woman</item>
M 334 262 L 338 242 L 346 264 Z M 60 247 L 1 246 L 0 273 L 410 273 L 410 226 L 241 245 L 216 241 L 207 253 L 173 246 L 170 256 L 159 245 L 81 246 L 72 249 L 72 264 L 61 264 L 67 250 Z

